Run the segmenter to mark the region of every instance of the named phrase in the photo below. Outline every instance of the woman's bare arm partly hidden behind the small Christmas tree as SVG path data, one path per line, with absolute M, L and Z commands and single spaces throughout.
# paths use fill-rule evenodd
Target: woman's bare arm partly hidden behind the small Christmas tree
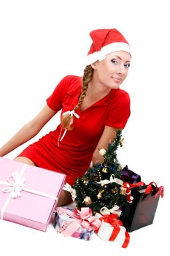
M 101 148 L 107 149 L 109 142 L 113 143 L 113 141 L 115 140 L 116 133 L 117 133 L 117 129 L 116 128 L 108 127 L 108 126 L 104 127 L 104 132 L 101 135 L 101 138 L 98 141 L 98 145 L 96 146 L 96 149 L 95 149 L 95 151 L 93 153 L 93 159 L 92 159 L 93 164 L 96 164 L 96 163 L 104 161 L 104 157 L 99 154 L 99 150 Z

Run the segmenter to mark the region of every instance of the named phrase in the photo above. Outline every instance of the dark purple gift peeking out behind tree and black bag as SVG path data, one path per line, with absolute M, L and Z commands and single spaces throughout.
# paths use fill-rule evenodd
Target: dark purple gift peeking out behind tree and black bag
M 141 176 L 134 173 L 132 170 L 129 170 L 128 165 L 125 165 L 125 167 L 121 170 L 121 179 L 130 184 L 134 184 L 141 181 Z

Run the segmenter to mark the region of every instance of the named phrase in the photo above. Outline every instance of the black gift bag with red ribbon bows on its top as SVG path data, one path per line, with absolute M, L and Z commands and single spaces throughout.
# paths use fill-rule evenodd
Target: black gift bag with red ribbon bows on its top
M 158 188 L 154 182 L 147 186 L 141 186 L 141 183 L 131 185 L 134 200 L 132 203 L 125 203 L 120 215 L 120 220 L 128 232 L 152 224 L 159 197 L 163 197 L 163 187 Z

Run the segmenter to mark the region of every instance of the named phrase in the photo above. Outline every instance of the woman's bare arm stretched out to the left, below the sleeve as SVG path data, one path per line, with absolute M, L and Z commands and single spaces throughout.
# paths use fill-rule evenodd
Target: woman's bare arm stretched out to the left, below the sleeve
M 24 125 L 7 143 L 0 148 L 0 157 L 8 154 L 18 146 L 26 143 L 39 133 L 42 127 L 55 115 L 55 111 L 51 110 L 47 105 L 42 108 L 39 114 Z

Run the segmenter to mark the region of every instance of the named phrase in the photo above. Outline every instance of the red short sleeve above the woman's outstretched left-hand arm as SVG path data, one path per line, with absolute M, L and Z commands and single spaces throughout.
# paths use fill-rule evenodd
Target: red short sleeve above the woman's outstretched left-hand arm
M 53 93 L 46 99 L 48 107 L 52 110 L 59 111 L 62 108 L 63 97 L 66 92 L 67 76 L 58 83 Z

